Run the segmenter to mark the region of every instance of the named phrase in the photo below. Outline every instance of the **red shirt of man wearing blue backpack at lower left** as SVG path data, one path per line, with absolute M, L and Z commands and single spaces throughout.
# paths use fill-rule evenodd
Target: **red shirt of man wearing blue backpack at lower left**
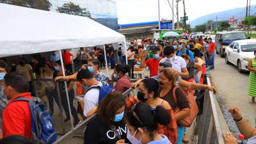
M 3 112 L 3 138 L 13 134 L 18 134 L 31 139 L 32 119 L 29 104 L 25 100 L 12 102 L 18 97 L 32 99 L 31 93 L 21 93 L 13 97 L 7 104 Z

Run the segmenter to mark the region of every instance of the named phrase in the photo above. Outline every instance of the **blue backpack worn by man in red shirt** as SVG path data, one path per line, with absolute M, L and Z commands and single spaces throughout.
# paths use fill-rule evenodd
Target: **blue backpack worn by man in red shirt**
M 45 103 L 38 97 L 33 97 L 33 100 L 26 97 L 18 97 L 12 102 L 25 100 L 29 102 L 29 109 L 32 118 L 32 136 L 33 143 L 36 144 L 51 144 L 57 140 L 57 133 L 54 131 L 52 124 L 51 112 L 47 109 Z

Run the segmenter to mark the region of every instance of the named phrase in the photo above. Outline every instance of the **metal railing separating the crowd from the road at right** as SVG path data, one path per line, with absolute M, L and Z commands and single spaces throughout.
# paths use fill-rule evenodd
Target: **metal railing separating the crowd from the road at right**
M 207 84 L 211 86 L 209 77 Z M 222 134 L 229 129 L 214 93 L 209 90 L 205 90 L 203 109 L 196 118 L 196 144 L 225 144 Z

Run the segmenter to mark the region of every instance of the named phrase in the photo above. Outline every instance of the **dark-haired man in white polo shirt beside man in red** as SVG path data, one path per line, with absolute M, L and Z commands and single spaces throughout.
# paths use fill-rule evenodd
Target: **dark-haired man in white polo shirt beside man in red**
M 164 47 L 164 56 L 166 57 L 163 58 L 159 63 L 171 63 L 172 68 L 177 70 L 180 79 L 181 77 L 189 77 L 187 64 L 185 60 L 175 55 L 175 50 L 172 45 Z

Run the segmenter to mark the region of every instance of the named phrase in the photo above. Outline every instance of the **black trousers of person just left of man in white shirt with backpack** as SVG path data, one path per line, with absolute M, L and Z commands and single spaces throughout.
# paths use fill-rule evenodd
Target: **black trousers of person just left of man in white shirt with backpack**
M 72 89 L 68 92 L 68 100 L 69 100 L 69 104 L 70 104 L 71 114 L 74 117 L 74 121 L 79 122 L 79 118 L 76 113 L 76 108 L 74 107 L 74 104 L 73 104 L 74 97 L 75 97 L 75 92 Z M 68 110 L 68 100 L 67 100 L 66 92 L 61 91 L 61 104 L 66 113 L 67 118 L 70 118 L 69 110 Z

